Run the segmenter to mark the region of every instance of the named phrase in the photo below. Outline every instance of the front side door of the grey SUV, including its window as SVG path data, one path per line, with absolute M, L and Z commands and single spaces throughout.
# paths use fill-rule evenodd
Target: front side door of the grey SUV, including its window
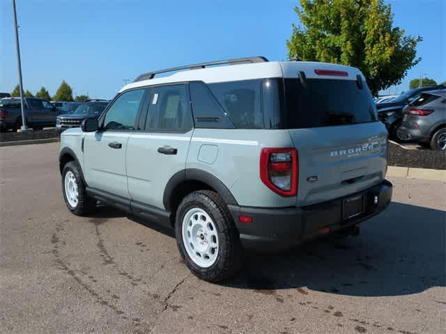
M 125 152 L 134 132 L 145 89 L 122 93 L 107 110 L 102 126 L 84 138 L 86 184 L 113 195 L 130 198 L 125 170 Z

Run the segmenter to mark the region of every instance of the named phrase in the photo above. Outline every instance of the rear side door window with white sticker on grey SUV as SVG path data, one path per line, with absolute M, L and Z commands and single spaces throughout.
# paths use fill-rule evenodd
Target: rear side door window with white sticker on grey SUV
M 144 129 L 192 129 L 189 96 L 184 84 L 152 88 Z

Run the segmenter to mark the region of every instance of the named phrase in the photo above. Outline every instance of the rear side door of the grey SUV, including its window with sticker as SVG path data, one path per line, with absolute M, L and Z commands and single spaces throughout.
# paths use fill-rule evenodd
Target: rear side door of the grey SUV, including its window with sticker
M 187 84 L 151 88 L 144 109 L 128 141 L 128 189 L 135 202 L 164 209 L 164 189 L 185 169 L 193 132 Z

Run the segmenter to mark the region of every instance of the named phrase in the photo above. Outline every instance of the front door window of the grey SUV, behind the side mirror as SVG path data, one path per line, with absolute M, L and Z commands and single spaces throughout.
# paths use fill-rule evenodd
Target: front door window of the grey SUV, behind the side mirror
M 105 115 L 105 129 L 134 130 L 134 121 L 144 96 L 144 90 L 128 90 L 118 97 Z

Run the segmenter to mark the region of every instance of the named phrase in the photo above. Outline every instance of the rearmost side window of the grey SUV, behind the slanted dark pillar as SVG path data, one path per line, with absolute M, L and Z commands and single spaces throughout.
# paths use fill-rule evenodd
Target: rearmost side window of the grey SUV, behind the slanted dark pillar
M 263 129 L 262 79 L 209 84 L 238 129 Z

